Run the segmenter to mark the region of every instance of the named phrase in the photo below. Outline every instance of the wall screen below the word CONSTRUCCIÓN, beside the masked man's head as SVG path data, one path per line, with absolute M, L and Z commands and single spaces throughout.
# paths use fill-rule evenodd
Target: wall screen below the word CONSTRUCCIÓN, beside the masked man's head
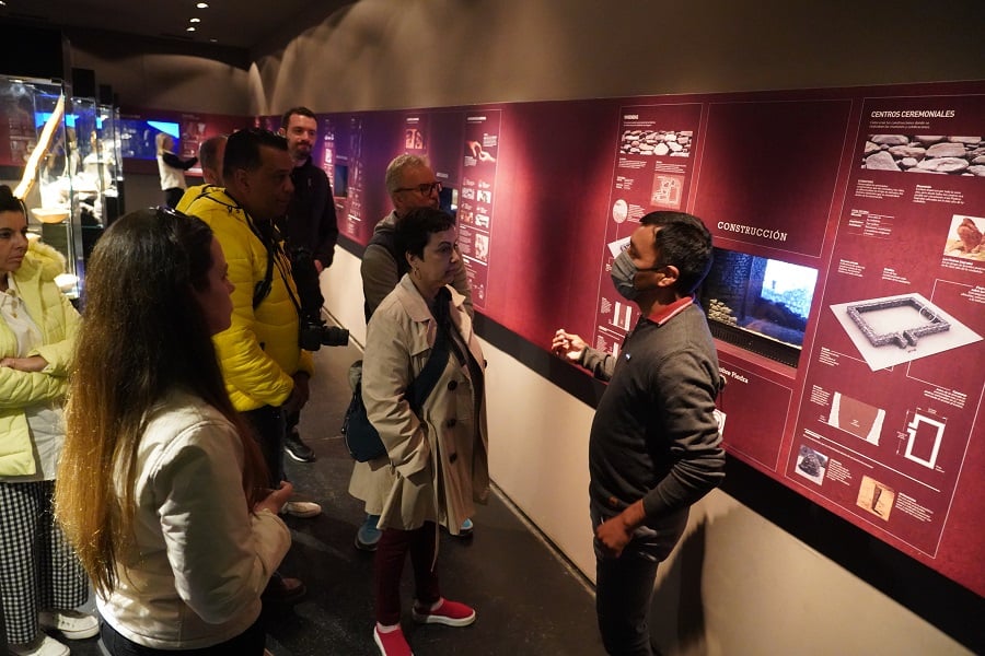
M 797 366 L 816 283 L 811 267 L 715 248 L 702 305 L 716 338 Z

